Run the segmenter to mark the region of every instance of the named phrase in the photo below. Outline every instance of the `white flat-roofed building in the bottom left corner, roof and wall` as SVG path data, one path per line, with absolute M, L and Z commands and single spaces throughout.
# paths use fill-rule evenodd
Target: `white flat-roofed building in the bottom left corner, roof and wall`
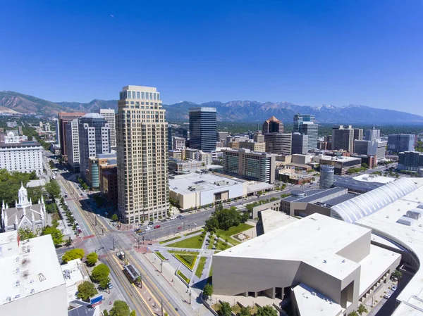
M 50 235 L 0 234 L 0 315 L 67 316 L 66 283 Z

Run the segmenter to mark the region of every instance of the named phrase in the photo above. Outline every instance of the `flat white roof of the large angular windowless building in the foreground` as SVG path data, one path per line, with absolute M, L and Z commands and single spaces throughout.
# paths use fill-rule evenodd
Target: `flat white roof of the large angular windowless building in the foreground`
M 215 255 L 302 261 L 336 279 L 345 279 L 360 263 L 337 253 L 369 232 L 314 213 Z

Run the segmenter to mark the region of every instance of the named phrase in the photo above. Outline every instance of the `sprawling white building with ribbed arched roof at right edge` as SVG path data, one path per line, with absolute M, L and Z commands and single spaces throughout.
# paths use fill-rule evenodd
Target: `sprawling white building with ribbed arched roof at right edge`
M 398 179 L 333 208 L 334 217 L 372 229 L 377 236 L 373 244 L 402 255 L 412 277 L 396 298 L 399 306 L 393 316 L 423 315 L 422 215 L 423 181 L 419 178 Z

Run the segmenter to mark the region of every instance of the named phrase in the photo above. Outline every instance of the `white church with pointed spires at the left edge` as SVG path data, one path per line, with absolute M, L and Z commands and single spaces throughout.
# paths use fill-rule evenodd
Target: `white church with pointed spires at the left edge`
M 34 233 L 41 232 L 47 225 L 47 211 L 44 204 L 44 198 L 37 204 L 28 201 L 27 189 L 21 184 L 18 191 L 18 201 L 14 208 L 9 208 L 4 201 L 1 206 L 1 232 L 10 232 L 13 230 L 30 229 Z

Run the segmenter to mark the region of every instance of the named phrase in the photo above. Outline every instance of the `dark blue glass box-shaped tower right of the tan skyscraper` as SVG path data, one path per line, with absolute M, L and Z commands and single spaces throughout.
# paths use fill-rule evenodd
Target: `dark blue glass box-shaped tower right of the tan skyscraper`
M 216 108 L 190 108 L 190 148 L 216 150 Z

